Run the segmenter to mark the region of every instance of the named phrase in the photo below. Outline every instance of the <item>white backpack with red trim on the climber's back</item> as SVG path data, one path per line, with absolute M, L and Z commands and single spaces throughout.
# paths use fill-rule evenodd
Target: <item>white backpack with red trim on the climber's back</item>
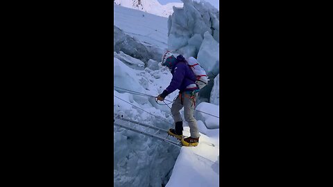
M 186 62 L 194 72 L 194 75 L 196 75 L 196 84 L 198 85 L 199 89 L 203 89 L 209 80 L 205 69 L 200 66 L 198 60 L 196 60 L 194 57 L 189 57 Z

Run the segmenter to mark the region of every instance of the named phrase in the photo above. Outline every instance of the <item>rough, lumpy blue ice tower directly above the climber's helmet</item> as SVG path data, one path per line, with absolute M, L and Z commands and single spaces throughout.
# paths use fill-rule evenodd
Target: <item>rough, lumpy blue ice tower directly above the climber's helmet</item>
M 184 7 L 173 7 L 173 15 L 169 16 L 168 48 L 185 57 L 196 57 L 206 32 L 219 42 L 219 10 L 205 1 L 182 2 Z

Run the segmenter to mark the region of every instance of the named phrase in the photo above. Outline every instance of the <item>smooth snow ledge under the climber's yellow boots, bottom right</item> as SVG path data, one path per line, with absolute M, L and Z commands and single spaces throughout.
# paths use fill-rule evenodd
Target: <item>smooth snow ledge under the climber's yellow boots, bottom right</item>
M 189 136 L 189 127 L 184 130 Z M 198 146 L 182 147 L 166 187 L 219 186 L 219 145 L 211 142 L 212 138 L 202 134 Z

